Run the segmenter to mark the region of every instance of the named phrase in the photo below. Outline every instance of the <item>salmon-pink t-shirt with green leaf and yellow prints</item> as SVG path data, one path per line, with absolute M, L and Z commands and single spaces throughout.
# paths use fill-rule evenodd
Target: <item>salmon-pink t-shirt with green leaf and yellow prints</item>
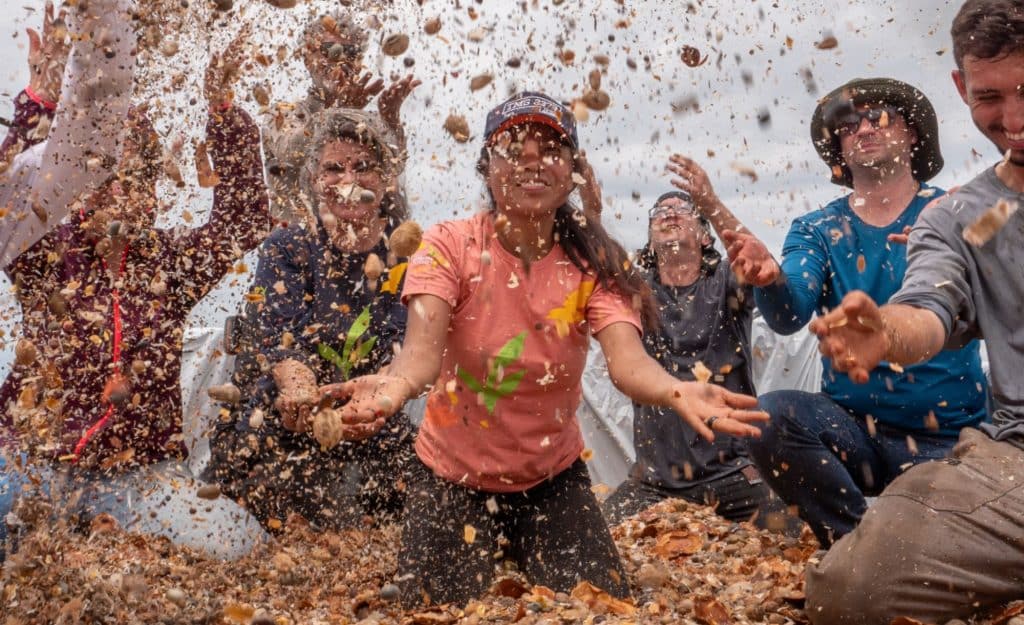
M 416 440 L 420 459 L 444 480 L 496 493 L 568 468 L 583 451 L 575 410 L 589 335 L 616 322 L 640 330 L 630 301 L 558 245 L 527 273 L 487 212 L 426 233 L 402 300 L 421 294 L 449 302 L 452 322 Z

